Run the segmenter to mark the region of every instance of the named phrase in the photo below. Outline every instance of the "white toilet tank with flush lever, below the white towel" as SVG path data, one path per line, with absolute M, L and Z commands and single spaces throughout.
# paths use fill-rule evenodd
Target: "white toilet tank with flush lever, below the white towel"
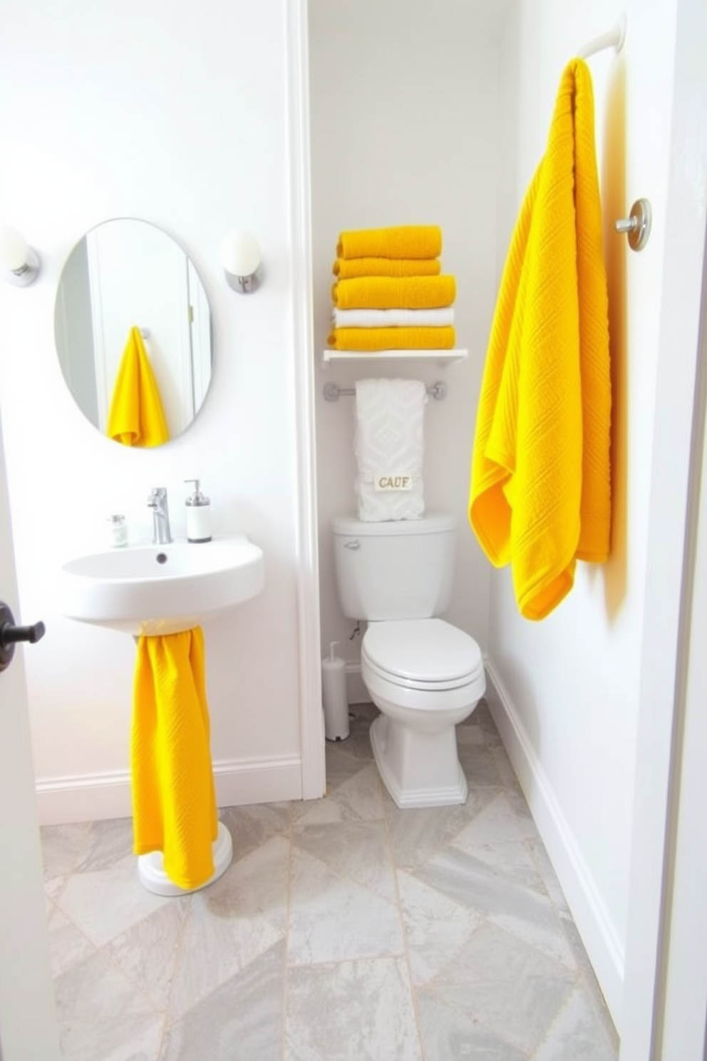
M 339 603 L 349 619 L 430 619 L 452 594 L 457 521 L 429 514 L 419 520 L 332 521 Z

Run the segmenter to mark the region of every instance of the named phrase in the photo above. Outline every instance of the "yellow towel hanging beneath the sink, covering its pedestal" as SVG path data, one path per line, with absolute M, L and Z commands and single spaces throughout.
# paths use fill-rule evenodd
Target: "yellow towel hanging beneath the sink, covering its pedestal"
M 170 880 L 198 888 L 218 829 L 198 626 L 138 641 L 130 765 L 135 853 L 163 852 Z

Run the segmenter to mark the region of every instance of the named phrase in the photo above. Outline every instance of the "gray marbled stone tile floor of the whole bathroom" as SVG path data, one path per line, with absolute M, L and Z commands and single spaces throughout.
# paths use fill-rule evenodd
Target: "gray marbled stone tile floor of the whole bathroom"
M 609 1061 L 611 1019 L 491 715 L 458 730 L 464 806 L 399 811 L 375 710 L 325 799 L 230 807 L 234 860 L 144 891 L 130 822 L 42 830 L 71 1061 Z

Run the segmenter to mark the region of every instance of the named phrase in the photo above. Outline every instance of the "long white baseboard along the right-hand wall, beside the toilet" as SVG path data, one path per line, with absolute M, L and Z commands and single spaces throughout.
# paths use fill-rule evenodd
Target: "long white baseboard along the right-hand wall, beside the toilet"
M 485 695 L 489 709 L 562 885 L 614 1023 L 620 1028 L 624 967 L 621 944 L 508 690 L 493 662 L 489 659 L 484 662 L 491 679 Z

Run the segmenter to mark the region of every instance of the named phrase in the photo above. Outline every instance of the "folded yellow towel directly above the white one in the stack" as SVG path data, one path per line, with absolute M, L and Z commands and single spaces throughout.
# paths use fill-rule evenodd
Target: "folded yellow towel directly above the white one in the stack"
M 360 276 L 332 288 L 340 310 L 430 310 L 452 306 L 456 293 L 453 276 Z

